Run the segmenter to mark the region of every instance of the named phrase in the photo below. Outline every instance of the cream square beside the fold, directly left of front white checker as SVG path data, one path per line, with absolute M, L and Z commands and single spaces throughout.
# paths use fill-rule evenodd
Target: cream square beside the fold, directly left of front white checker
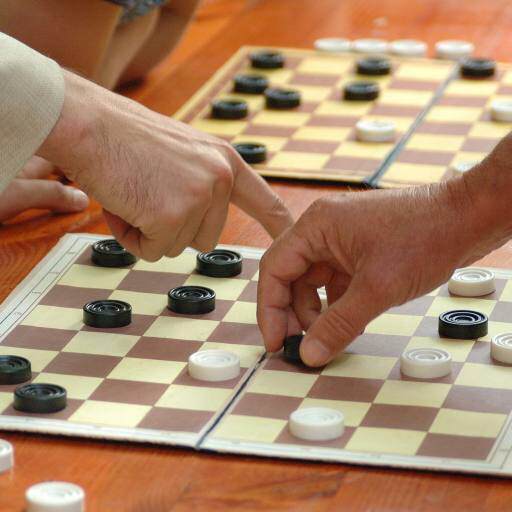
M 273 443 L 286 427 L 286 420 L 231 414 L 214 430 L 216 439 Z

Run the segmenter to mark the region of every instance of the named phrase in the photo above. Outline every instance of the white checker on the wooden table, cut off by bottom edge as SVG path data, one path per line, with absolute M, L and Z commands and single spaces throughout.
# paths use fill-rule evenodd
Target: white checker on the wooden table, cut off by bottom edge
M 25 493 L 26 512 L 83 512 L 85 493 L 69 482 L 41 482 Z

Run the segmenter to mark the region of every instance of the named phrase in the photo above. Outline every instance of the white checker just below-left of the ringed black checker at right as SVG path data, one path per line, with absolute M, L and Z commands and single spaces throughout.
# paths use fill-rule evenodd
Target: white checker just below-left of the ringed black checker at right
M 415 348 L 400 357 L 400 371 L 415 379 L 438 379 L 452 371 L 452 357 L 438 348 Z

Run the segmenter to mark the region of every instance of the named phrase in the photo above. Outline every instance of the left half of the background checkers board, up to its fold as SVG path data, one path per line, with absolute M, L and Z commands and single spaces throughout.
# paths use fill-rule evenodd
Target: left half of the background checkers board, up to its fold
M 390 57 L 391 75 L 355 73 L 361 54 L 328 54 L 277 48 L 285 56 L 281 69 L 252 69 L 242 47 L 175 114 L 186 122 L 231 143 L 258 142 L 268 149 L 267 161 L 254 165 L 263 176 L 340 181 L 372 185 L 401 141 L 408 137 L 454 72 L 452 62 Z M 270 85 L 300 91 L 302 103 L 292 110 L 265 108 L 263 95 L 232 92 L 233 77 L 253 73 L 268 77 Z M 341 100 L 344 84 L 353 80 L 379 83 L 374 101 Z M 213 119 L 213 99 L 242 99 L 249 116 L 242 120 Z M 360 142 L 355 124 L 360 119 L 390 120 L 396 125 L 394 142 Z

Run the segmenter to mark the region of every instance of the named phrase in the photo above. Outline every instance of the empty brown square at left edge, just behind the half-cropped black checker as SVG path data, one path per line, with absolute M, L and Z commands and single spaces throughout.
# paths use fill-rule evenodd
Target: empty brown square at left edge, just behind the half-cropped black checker
M 17 325 L 2 341 L 4 347 L 62 350 L 76 331 Z

